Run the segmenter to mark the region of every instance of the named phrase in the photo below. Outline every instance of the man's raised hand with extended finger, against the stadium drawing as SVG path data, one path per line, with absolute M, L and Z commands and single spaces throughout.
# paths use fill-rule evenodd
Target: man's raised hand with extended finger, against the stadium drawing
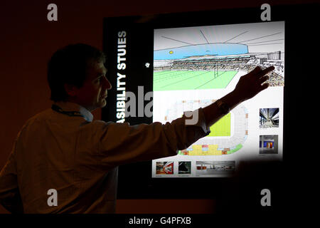
M 264 83 L 269 79 L 267 73 L 274 70 L 274 66 L 270 66 L 262 70 L 257 66 L 253 71 L 242 76 L 235 86 L 234 93 L 240 99 L 240 102 L 253 98 L 257 93 L 269 87 L 268 83 Z M 264 83 L 262 85 L 262 83 Z

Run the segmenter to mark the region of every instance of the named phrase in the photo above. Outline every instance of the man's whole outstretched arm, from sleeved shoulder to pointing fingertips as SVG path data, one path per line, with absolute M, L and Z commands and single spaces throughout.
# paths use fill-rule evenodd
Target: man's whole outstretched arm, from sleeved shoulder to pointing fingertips
M 231 110 L 242 101 L 252 98 L 267 88 L 267 85 L 261 86 L 261 84 L 267 80 L 265 74 L 272 69 L 267 68 L 262 71 L 260 68 L 255 68 L 254 71 L 242 76 L 235 90 L 220 101 L 227 104 Z M 88 139 L 96 140 L 93 144 L 99 145 L 95 154 L 98 162 L 93 160 L 94 164 L 95 166 L 99 164 L 102 170 L 109 170 L 130 162 L 174 156 L 178 150 L 184 150 L 193 142 L 208 135 L 210 125 L 221 117 L 223 114 L 215 102 L 206 108 L 186 112 L 182 118 L 166 124 L 156 122 L 149 125 L 128 125 L 96 121 L 97 127 L 94 130 L 95 134 L 92 135 L 100 137 Z M 196 121 L 193 121 L 195 119 Z

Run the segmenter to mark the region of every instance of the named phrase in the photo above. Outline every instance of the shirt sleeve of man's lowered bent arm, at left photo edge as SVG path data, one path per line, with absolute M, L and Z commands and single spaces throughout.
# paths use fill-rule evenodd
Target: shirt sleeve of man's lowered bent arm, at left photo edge
M 18 190 L 15 150 L 16 141 L 6 165 L 0 172 L 0 203 L 11 213 L 23 213 L 23 205 Z

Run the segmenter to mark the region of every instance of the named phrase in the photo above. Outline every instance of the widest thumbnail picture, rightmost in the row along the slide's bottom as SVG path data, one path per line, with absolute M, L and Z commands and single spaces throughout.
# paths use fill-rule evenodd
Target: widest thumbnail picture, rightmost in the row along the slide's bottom
M 235 161 L 198 161 L 197 175 L 232 174 L 235 172 Z

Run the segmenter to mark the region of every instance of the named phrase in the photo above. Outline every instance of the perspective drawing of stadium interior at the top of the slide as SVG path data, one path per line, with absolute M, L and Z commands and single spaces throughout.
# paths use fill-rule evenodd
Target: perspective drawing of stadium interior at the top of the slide
M 284 86 L 283 28 L 280 21 L 159 29 L 154 91 L 226 88 L 238 71 L 256 66 L 274 66 L 270 86 Z

